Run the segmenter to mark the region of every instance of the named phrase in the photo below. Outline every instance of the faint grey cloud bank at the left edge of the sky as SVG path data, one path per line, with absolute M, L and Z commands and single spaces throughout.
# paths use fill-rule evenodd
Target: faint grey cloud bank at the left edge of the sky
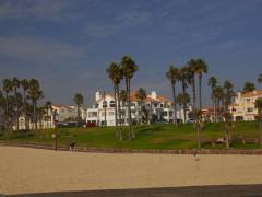
M 0 36 L 0 57 L 37 63 L 74 62 L 85 48 L 41 36 Z

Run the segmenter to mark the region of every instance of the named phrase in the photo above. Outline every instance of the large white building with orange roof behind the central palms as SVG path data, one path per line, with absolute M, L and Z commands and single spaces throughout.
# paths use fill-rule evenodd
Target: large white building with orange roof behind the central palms
M 128 111 L 127 105 L 121 103 L 122 108 L 122 121 L 124 125 L 128 125 Z M 102 92 L 96 92 L 95 102 L 92 107 L 87 108 L 87 118 L 86 123 L 93 125 L 107 125 L 115 126 L 115 105 L 116 101 L 114 99 L 114 94 L 103 94 Z M 144 107 L 148 112 L 151 119 L 155 119 L 156 121 L 165 121 L 172 123 L 174 119 L 174 108 L 171 106 L 171 101 L 164 96 L 159 96 L 153 91 L 150 95 L 144 100 Z M 191 107 L 190 107 L 191 109 Z M 187 120 L 188 120 L 188 112 L 187 109 Z M 140 123 L 142 121 L 142 113 L 141 105 L 139 100 L 135 96 L 135 92 L 131 92 L 131 116 L 132 121 Z M 177 112 L 177 118 L 181 117 L 183 119 L 183 111 L 180 109 Z M 118 118 L 119 119 L 119 118 Z

